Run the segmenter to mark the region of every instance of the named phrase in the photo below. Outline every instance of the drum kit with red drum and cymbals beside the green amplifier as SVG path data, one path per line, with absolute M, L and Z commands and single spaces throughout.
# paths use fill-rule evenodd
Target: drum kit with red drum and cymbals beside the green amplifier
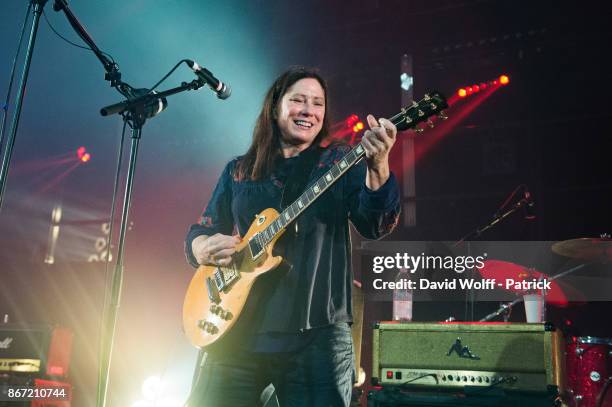
M 609 237 L 565 240 L 553 244 L 552 251 L 561 256 L 587 263 L 554 276 L 547 276 L 550 289 L 542 293 L 544 304 L 567 307 L 570 298 L 574 303 L 575 300 L 579 302 L 580 294 L 560 279 L 588 264 L 612 264 L 612 239 Z M 545 277 L 542 272 L 511 262 L 488 260 L 484 263 L 485 266 L 480 269 L 483 278 L 511 278 L 527 281 Z M 497 311 L 487 315 L 481 321 L 489 321 L 502 314 L 507 316 L 514 305 L 524 300 L 523 295 L 526 294 L 519 289 L 515 290 L 515 293 L 519 295 L 516 300 L 503 304 Z M 582 300 L 584 301 L 585 298 Z M 526 306 L 526 313 L 527 311 Z M 543 315 L 544 312 L 542 312 Z M 565 361 L 569 406 L 612 407 L 612 338 L 571 337 L 567 340 Z

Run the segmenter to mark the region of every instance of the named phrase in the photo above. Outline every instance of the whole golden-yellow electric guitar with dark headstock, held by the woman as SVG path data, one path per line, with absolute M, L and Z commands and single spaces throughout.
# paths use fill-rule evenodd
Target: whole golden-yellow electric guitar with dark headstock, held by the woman
M 389 120 L 398 131 L 426 120 L 431 126 L 429 118 L 446 118 L 442 110 L 447 107 L 444 96 L 432 92 Z M 183 328 L 194 346 L 206 348 L 226 336 L 239 320 L 255 281 L 284 262 L 272 254 L 272 249 L 287 226 L 364 156 L 365 148 L 359 143 L 281 213 L 268 208 L 255 215 L 236 247 L 232 264 L 197 269 L 183 304 Z

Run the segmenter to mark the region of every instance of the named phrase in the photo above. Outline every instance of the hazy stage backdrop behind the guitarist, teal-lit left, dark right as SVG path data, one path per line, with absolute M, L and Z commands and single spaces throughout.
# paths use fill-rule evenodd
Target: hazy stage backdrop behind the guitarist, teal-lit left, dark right
M 3 96 L 27 5 L 5 3 Z M 404 54 L 414 61 L 415 98 L 429 89 L 450 96 L 461 86 L 509 75 L 508 86 L 461 116 L 447 134 L 434 130 L 416 137 L 416 196 L 405 198 L 416 202 L 416 225 L 402 221 L 388 240 L 457 240 L 490 219 L 519 184 L 529 186 L 537 218 L 526 221 L 517 214 L 487 232 L 486 240 L 555 241 L 612 233 L 607 103 L 612 32 L 603 4 L 71 2 L 100 48 L 120 64 L 126 82 L 150 86 L 178 60 L 191 58 L 234 89 L 227 101 L 207 90 L 173 97 L 145 126 L 110 405 L 142 399 L 141 385 L 149 376 L 163 383 L 158 405 L 180 405 L 186 398 L 196 352 L 180 327 L 192 273 L 183 258 L 184 233 L 224 163 L 247 148 L 267 86 L 289 65 L 320 67 L 330 84 L 332 123 L 353 113 L 364 118 L 370 112 L 377 117 L 397 112 Z M 51 4 L 45 11 L 58 31 L 79 42 Z M 179 69 L 162 89 L 191 78 L 187 68 Z M 74 329 L 75 405 L 87 406 L 95 395 L 105 278 L 103 264 L 88 259 L 99 253 L 97 240 L 104 237 L 101 224 L 110 213 L 121 130 L 119 118 L 103 118 L 98 110 L 120 98 L 103 80 L 95 57 L 58 39 L 44 19 L 28 84 L 0 213 L 0 312 L 13 322 Z M 470 100 L 475 99 L 457 102 L 451 116 L 465 112 Z M 86 146 L 92 159 L 74 167 L 79 146 Z M 403 177 L 401 151 L 395 149 L 393 166 Z M 54 206 L 62 207 L 63 216 L 55 262 L 49 265 L 43 260 Z M 353 243 L 359 246 L 357 236 Z M 359 256 L 356 251 L 355 273 L 367 282 L 371 276 L 359 269 Z M 496 306 L 478 304 L 474 313 L 480 317 Z M 461 302 L 417 303 L 414 316 L 462 319 L 463 310 Z M 611 311 L 608 302 L 587 302 L 551 315 L 561 324 L 571 320 L 574 334 L 612 336 Z M 390 318 L 390 303 L 366 299 L 366 327 Z M 369 339 L 366 329 L 364 367 L 370 363 Z

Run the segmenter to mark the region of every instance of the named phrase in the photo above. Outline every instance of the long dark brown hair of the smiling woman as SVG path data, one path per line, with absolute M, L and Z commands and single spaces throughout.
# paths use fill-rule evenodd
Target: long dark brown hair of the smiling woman
M 292 67 L 279 76 L 272 84 L 261 108 L 253 129 L 253 142 L 236 166 L 234 176 L 238 180 L 260 180 L 270 175 L 275 161 L 281 156 L 281 133 L 276 123 L 278 104 L 294 83 L 304 78 L 316 79 L 325 94 L 325 116 L 323 127 L 313 141 L 321 144 L 329 135 L 327 84 L 319 73 L 311 68 Z

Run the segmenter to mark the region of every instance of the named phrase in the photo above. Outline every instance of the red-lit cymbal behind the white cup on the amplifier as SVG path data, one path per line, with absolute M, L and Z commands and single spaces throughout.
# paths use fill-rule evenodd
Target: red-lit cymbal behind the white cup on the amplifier
M 498 282 L 505 281 L 506 279 L 512 279 L 517 282 L 539 280 L 540 278 L 548 279 L 546 274 L 534 268 L 502 260 L 485 260 L 484 267 L 478 269 L 478 271 L 483 278 L 492 278 Z M 546 293 L 546 302 L 562 307 L 567 306 L 569 304 L 568 294 L 573 294 L 573 290 L 566 287 L 566 285 L 562 287 L 558 281 L 553 280 L 549 282 L 551 288 Z M 509 291 L 519 295 L 526 294 L 522 289 L 511 288 Z M 567 294 L 566 291 L 568 291 Z M 569 291 L 572 292 L 570 293 Z

